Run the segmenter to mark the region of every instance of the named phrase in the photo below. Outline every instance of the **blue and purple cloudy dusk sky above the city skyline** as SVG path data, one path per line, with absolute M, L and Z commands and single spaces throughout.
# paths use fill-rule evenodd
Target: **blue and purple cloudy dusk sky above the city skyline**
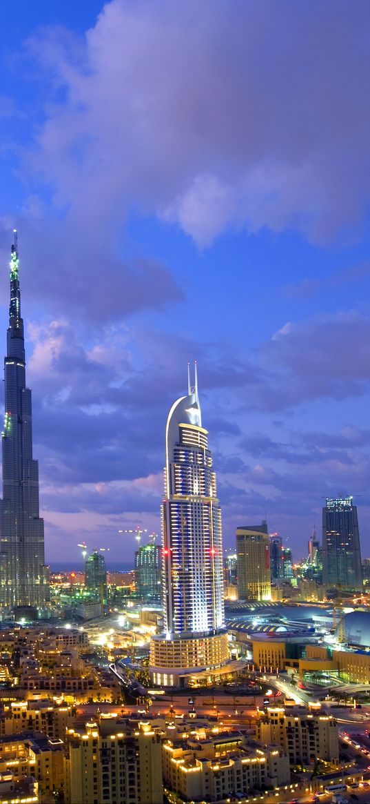
M 369 40 L 368 0 L 2 0 L 0 344 L 17 228 L 48 561 L 160 534 L 195 359 L 226 548 L 266 517 L 306 556 L 352 494 L 368 555 Z

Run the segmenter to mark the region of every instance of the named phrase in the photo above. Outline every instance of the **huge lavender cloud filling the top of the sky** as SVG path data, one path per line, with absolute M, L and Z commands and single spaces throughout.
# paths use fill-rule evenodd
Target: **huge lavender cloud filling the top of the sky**
M 368 206 L 369 28 L 364 0 L 112 0 L 84 39 L 28 43 L 54 92 L 28 170 L 79 228 L 136 207 L 201 245 L 327 240 Z

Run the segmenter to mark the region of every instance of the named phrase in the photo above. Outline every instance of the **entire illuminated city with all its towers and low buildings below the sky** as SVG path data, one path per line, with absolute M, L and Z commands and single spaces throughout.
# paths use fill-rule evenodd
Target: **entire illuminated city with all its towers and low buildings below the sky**
M 353 497 L 326 499 L 302 561 L 266 520 L 224 551 L 188 364 L 165 425 L 161 543 L 128 529 L 131 570 L 83 542 L 82 572 L 50 572 L 15 230 L 4 371 L 2 802 L 366 801 L 370 558 Z

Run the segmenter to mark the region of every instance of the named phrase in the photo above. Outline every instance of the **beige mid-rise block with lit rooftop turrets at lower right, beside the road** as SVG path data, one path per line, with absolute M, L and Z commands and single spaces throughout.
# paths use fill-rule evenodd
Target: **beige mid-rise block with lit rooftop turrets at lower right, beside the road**
M 318 757 L 335 765 L 339 762 L 338 725 L 331 715 L 269 706 L 258 712 L 256 736 L 262 743 L 279 745 L 292 765 L 314 765 Z

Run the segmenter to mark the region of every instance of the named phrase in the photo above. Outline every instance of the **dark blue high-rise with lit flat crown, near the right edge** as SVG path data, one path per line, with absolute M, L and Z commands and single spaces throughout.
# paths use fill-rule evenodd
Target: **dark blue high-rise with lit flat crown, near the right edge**
M 352 499 L 327 498 L 323 508 L 323 584 L 360 591 L 359 523 Z

